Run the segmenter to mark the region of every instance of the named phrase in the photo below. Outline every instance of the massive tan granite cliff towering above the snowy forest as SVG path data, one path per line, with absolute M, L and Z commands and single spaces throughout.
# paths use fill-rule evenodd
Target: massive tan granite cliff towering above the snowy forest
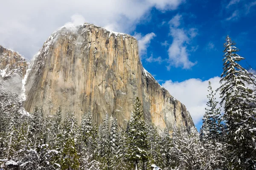
M 143 102 L 145 119 L 172 131 L 174 122 L 194 126 L 184 105 L 162 88 L 141 65 L 137 40 L 91 24 L 61 28 L 44 43 L 27 71 L 24 107 L 35 105 L 53 114 L 77 119 L 91 106 L 94 122 L 106 113 L 127 124 L 136 96 Z

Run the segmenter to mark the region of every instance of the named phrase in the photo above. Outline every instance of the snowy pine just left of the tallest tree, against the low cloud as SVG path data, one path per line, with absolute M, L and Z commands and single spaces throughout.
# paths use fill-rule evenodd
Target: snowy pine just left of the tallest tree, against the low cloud
M 204 167 L 209 169 L 221 169 L 227 167 L 225 164 L 226 145 L 225 143 L 221 143 L 225 136 L 221 134 L 223 130 L 221 112 L 220 108 L 217 107 L 216 93 L 212 90 L 211 82 L 209 82 L 208 92 L 208 108 L 205 108 L 203 125 L 200 129 L 200 142 L 204 149 L 206 149 L 204 159 L 207 157 Z

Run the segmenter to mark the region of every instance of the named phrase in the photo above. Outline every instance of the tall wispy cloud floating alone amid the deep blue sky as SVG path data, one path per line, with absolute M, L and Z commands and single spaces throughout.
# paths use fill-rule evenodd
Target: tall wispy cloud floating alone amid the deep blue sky
M 197 62 L 189 61 L 189 54 L 187 45 L 197 35 L 197 29 L 190 28 L 185 30 L 184 28 L 178 28 L 180 26 L 181 15 L 177 14 L 170 20 L 170 35 L 172 36 L 172 44 L 169 46 L 169 70 L 171 66 L 182 67 L 183 69 L 189 69 Z

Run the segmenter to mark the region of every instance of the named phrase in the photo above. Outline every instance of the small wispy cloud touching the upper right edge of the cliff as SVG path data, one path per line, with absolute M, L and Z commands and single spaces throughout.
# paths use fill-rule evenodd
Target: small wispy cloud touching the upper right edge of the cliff
M 150 44 L 150 41 L 154 37 L 156 37 L 156 34 L 154 34 L 154 32 L 151 32 L 143 37 L 140 33 L 136 33 L 134 37 L 138 40 L 140 58 L 143 58 L 143 56 L 147 54 L 147 48 L 148 45 Z

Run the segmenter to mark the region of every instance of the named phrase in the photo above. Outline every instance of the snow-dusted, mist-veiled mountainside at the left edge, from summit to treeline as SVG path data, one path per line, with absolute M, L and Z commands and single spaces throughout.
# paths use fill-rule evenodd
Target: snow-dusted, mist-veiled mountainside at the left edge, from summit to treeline
M 20 99 L 27 67 L 25 58 L 0 45 L 0 114 L 27 114 Z

